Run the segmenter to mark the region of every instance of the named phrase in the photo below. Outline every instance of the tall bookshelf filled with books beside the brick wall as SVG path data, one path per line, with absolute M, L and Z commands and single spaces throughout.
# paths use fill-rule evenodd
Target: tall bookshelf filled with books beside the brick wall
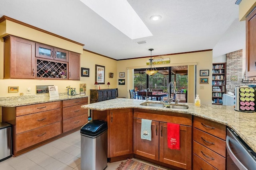
M 226 93 L 226 63 L 212 64 L 212 104 L 222 105 Z

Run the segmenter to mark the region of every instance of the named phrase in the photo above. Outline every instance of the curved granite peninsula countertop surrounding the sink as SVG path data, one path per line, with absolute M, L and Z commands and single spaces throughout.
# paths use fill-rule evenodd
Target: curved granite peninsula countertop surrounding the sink
M 256 113 L 246 113 L 235 111 L 232 106 L 222 105 L 201 105 L 195 107 L 193 103 L 180 103 L 188 105 L 188 109 L 170 109 L 160 107 L 141 106 L 140 104 L 145 100 L 116 98 L 81 106 L 85 109 L 93 109 L 104 111 L 108 109 L 125 109 L 125 108 L 138 108 L 150 109 L 160 111 L 175 111 L 177 113 L 191 114 L 194 116 L 202 117 L 218 123 L 222 123 L 232 128 L 249 147 L 256 152 Z M 153 101 L 150 101 L 153 102 Z M 160 102 L 160 101 L 154 101 Z

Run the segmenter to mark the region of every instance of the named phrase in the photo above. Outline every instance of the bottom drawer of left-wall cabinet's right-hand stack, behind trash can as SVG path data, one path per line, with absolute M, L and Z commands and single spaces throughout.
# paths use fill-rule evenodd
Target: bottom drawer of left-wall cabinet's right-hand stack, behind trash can
M 76 116 L 63 121 L 63 133 L 80 127 L 88 122 L 88 114 Z

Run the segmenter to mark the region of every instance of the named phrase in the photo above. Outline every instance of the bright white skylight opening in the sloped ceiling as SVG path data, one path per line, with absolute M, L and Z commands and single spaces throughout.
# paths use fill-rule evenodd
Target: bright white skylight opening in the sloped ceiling
M 126 0 L 80 0 L 130 39 L 152 33 Z

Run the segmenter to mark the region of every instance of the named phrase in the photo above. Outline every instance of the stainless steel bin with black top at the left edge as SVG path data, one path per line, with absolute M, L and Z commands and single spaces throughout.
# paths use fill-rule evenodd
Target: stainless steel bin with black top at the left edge
M 11 125 L 0 122 L 0 162 L 12 157 Z

